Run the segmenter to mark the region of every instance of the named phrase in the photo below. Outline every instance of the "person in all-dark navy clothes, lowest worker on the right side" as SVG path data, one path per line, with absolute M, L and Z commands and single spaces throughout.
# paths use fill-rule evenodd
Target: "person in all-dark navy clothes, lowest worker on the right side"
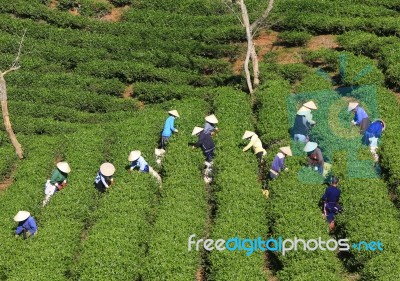
M 340 189 L 337 185 L 339 179 L 337 177 L 332 178 L 332 183 L 326 188 L 324 195 L 321 200 L 324 202 L 324 216 L 328 220 L 329 230 L 335 229 L 335 215 L 342 211 L 342 207 L 339 205 Z

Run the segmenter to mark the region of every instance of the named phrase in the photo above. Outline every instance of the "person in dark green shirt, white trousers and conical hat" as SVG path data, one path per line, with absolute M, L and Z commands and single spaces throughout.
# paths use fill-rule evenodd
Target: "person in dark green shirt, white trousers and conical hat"
M 71 168 L 67 162 L 58 162 L 57 168 L 53 170 L 51 178 L 47 180 L 44 186 L 44 193 L 46 195 L 43 200 L 43 207 L 49 202 L 51 196 L 57 191 L 63 189 L 67 185 L 67 177 Z

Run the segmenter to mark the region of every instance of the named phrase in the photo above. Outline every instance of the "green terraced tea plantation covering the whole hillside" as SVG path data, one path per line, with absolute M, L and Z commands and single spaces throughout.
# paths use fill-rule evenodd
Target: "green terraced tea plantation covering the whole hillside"
M 245 3 L 252 22 L 268 1 Z M 1 280 L 400 280 L 400 1 L 276 0 L 255 31 L 261 83 L 252 97 L 240 67 L 245 29 L 231 5 L 1 1 L 0 71 L 10 68 L 26 32 L 20 69 L 4 76 L 25 158 L 16 156 L 2 123 Z M 324 36 L 335 46 L 313 45 Z M 333 233 L 318 207 L 324 179 L 290 136 L 308 100 L 318 105 L 310 139 L 340 178 L 344 212 Z M 387 125 L 377 163 L 350 125 L 353 100 Z M 154 149 L 171 109 L 181 116 L 178 132 L 159 165 Z M 191 132 L 210 114 L 221 130 L 213 137 L 213 180 L 205 183 Z M 267 151 L 260 175 L 255 155 L 242 152 L 246 130 Z M 274 156 L 288 145 L 289 170 L 270 180 Z M 150 174 L 129 173 L 131 150 L 141 150 L 161 185 Z M 44 183 L 59 161 L 71 166 L 68 186 L 42 207 Z M 93 181 L 103 162 L 115 165 L 115 183 L 99 193 Z M 36 219 L 34 238 L 14 237 L 19 210 Z M 247 245 L 347 239 L 350 247 L 189 250 L 193 234 L 194 241 L 237 237 Z M 352 247 L 378 240 L 382 251 Z

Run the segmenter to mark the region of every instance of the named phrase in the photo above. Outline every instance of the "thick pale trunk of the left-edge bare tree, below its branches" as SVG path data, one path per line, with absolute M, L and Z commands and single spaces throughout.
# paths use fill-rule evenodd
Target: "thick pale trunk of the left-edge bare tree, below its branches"
M 10 117 L 8 114 L 8 105 L 7 105 L 7 87 L 6 80 L 4 79 L 3 73 L 0 72 L 0 101 L 1 101 L 1 112 L 3 115 L 4 126 L 10 137 L 11 143 L 15 148 L 15 152 L 17 153 L 19 159 L 24 158 L 24 152 L 22 151 L 21 144 L 18 142 L 17 137 L 14 134 L 14 131 L 11 127 Z

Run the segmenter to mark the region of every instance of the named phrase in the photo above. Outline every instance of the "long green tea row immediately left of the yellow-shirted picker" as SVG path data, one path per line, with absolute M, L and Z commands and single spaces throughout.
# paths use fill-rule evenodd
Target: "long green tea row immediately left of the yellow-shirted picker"
M 249 99 L 242 92 L 221 88 L 213 99 L 221 131 L 216 135 L 214 160 L 217 215 L 212 238 L 264 237 L 267 233 L 265 199 L 257 181 L 257 160 L 242 152 L 240 135 L 252 130 Z M 238 122 L 240 120 L 240 122 Z M 240 174 L 238 171 L 241 171 Z M 264 280 L 264 252 L 213 251 L 211 275 L 216 280 Z

